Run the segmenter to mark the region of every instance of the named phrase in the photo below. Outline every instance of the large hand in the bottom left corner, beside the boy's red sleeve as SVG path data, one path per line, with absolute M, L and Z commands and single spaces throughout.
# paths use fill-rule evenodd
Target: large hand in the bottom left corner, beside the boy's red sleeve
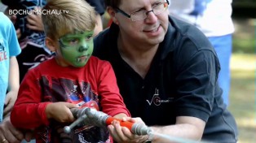
M 3 119 L 2 123 L 0 123 L 0 141 L 4 143 L 20 143 L 23 138 L 23 133 L 11 124 L 10 116 Z

